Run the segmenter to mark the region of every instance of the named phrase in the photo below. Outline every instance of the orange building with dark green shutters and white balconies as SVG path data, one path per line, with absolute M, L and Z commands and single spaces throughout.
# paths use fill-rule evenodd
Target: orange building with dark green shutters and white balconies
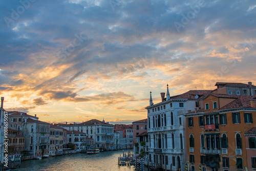
M 200 163 L 203 171 L 252 170 L 245 133 L 256 123 L 253 96 L 210 94 L 204 108 L 185 117 L 189 170 L 200 170 Z

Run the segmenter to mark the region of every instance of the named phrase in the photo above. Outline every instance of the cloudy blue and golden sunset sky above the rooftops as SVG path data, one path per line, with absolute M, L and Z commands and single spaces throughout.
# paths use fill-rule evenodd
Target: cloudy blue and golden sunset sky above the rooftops
M 150 91 L 256 84 L 255 1 L 0 2 L 0 95 L 39 120 L 132 123 Z

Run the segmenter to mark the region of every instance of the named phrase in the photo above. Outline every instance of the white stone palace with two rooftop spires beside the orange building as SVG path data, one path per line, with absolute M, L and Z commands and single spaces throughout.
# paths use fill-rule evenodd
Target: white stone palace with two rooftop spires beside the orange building
M 147 106 L 148 160 L 151 167 L 168 170 L 185 170 L 186 139 L 184 114 L 200 108 L 203 99 L 210 94 L 208 90 L 188 91 L 170 97 L 161 93 L 162 101 L 154 104 L 150 94 Z M 172 167 L 172 168 L 170 168 Z

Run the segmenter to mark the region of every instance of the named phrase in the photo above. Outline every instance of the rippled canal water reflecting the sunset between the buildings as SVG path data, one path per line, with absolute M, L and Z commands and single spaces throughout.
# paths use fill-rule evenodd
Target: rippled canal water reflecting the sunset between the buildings
M 118 167 L 118 157 L 129 150 L 102 152 L 88 155 L 86 153 L 68 154 L 49 157 L 41 160 L 23 161 L 17 170 L 83 170 L 83 171 L 128 171 L 135 170 L 134 166 Z M 131 149 L 130 149 L 131 152 Z

